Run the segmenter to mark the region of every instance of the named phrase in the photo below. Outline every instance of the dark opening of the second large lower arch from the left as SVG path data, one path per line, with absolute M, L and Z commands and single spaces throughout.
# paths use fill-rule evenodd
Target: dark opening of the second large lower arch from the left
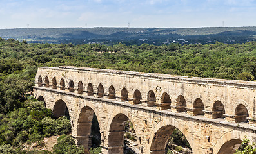
M 70 119 L 68 106 L 62 99 L 59 99 L 54 103 L 54 108 L 52 109 L 52 112 L 55 118 L 66 116 L 68 117 L 68 119 Z

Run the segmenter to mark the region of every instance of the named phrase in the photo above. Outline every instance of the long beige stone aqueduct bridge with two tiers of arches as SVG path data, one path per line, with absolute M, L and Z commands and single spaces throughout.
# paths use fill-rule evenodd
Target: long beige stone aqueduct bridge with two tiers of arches
M 92 117 L 103 153 L 123 153 L 129 119 L 140 153 L 165 153 L 174 128 L 193 153 L 234 153 L 255 141 L 256 83 L 84 67 L 39 67 L 34 96 L 54 116 L 68 111 L 77 144 L 90 146 Z

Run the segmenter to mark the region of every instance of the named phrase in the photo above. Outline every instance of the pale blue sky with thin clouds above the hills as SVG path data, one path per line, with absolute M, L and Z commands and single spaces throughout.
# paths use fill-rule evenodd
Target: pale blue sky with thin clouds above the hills
M 256 26 L 256 0 L 0 0 L 0 28 Z

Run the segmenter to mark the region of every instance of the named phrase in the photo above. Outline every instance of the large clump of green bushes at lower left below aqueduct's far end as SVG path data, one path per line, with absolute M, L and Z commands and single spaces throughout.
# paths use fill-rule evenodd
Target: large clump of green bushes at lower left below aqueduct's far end
M 52 119 L 51 110 L 46 109 L 42 102 L 28 98 L 23 106 L 6 115 L 1 114 L 0 144 L 19 146 L 71 131 L 70 121 L 66 117 Z

